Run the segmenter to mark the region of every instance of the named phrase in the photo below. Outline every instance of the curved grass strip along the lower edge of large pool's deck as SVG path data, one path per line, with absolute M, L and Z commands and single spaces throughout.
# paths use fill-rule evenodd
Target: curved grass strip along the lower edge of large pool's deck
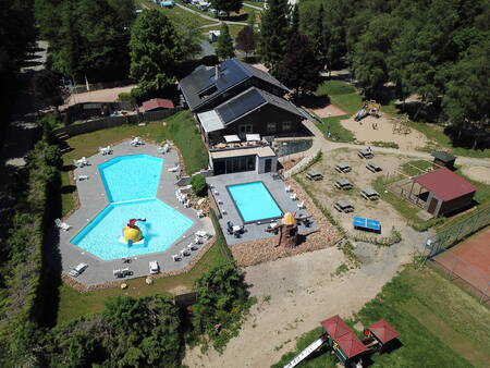
M 215 217 L 212 220 L 215 223 L 215 229 L 219 229 Z M 195 281 L 204 272 L 209 270 L 211 267 L 228 262 L 228 258 L 223 255 L 223 250 L 221 248 L 223 246 L 226 247 L 224 237 L 219 231 L 217 231 L 216 243 L 188 273 L 156 279 L 151 285 L 146 284 L 145 278 L 138 278 L 125 281 L 127 284 L 126 290 L 111 287 L 96 292 L 79 293 L 70 286 L 61 284 L 59 286 L 57 323 L 68 322 L 81 316 L 102 311 L 106 300 L 112 296 L 128 295 L 138 297 L 157 293 L 172 294 L 177 287 L 179 290 L 192 291 Z

